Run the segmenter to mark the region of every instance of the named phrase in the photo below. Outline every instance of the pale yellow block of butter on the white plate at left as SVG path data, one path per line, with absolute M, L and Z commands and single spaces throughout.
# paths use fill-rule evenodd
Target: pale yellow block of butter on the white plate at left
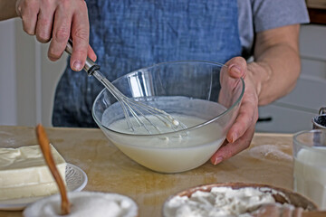
M 51 145 L 53 159 L 65 182 L 66 162 Z M 0 200 L 44 196 L 59 189 L 45 164 L 40 146 L 0 147 Z

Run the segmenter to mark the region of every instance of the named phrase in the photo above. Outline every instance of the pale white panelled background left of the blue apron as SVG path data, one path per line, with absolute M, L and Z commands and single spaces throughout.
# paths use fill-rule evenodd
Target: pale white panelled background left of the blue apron
M 54 90 L 67 55 L 49 61 L 48 44 L 24 33 L 20 19 L 1 22 L 0 33 L 0 63 L 6 66 L 0 67 L 0 125 L 52 126 Z

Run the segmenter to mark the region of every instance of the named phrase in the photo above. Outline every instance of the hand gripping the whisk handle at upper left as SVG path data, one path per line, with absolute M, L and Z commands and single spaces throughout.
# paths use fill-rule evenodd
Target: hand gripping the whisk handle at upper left
M 90 24 L 83 0 L 17 0 L 16 13 L 23 20 L 24 32 L 39 42 L 50 42 L 48 57 L 57 61 L 72 38 L 71 67 L 81 71 L 87 55 L 96 60 L 89 45 Z

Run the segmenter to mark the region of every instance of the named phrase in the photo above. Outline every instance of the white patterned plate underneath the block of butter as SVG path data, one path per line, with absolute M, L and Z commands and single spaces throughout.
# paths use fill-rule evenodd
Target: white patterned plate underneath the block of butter
M 85 174 L 85 172 L 82 171 L 80 167 L 68 163 L 65 171 L 65 179 L 67 183 L 68 192 L 81 192 L 88 181 L 87 175 Z M 35 201 L 41 198 L 43 198 L 43 196 L 0 201 L 0 210 L 23 210 L 29 203 L 34 203 Z

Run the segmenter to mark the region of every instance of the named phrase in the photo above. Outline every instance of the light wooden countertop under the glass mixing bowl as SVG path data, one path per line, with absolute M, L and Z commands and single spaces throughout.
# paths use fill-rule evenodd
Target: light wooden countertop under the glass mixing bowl
M 161 216 L 169 195 L 199 184 L 245 182 L 292 189 L 292 135 L 255 134 L 252 145 L 220 165 L 181 174 L 158 174 L 138 165 L 113 146 L 100 129 L 46 128 L 65 160 L 88 175 L 84 191 L 122 193 L 139 204 L 139 217 Z M 35 145 L 34 127 L 0 126 L 0 146 Z M 0 212 L 1 217 L 22 212 Z

